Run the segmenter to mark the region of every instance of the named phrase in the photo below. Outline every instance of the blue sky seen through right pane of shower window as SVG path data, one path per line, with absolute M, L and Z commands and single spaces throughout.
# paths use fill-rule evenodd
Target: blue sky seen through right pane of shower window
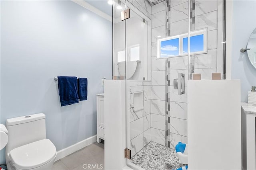
M 190 53 L 204 51 L 204 35 L 190 37 Z M 183 54 L 188 53 L 188 37 L 183 38 Z

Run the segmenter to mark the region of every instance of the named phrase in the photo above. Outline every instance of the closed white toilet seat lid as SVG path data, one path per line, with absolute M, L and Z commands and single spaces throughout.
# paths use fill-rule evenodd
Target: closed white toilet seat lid
M 27 170 L 42 166 L 56 156 L 56 148 L 49 139 L 43 139 L 10 151 L 16 168 Z

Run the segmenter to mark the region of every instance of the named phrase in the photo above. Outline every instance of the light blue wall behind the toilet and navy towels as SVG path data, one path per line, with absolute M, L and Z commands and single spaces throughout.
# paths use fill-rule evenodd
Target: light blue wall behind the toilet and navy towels
M 72 1 L 1 1 L 0 66 L 0 122 L 43 112 L 61 150 L 96 135 L 95 94 L 112 78 L 112 22 Z M 60 106 L 53 78 L 63 75 L 88 78 L 87 101 Z

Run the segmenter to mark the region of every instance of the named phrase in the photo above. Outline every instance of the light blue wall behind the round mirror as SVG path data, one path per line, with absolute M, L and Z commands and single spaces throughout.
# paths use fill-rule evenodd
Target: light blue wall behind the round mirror
M 256 1 L 233 1 L 233 32 L 232 32 L 232 79 L 241 80 L 241 101 L 248 101 L 248 91 L 256 86 L 256 69 L 248 59 L 247 53 L 240 53 L 256 27 Z M 226 30 L 228 31 L 228 30 Z

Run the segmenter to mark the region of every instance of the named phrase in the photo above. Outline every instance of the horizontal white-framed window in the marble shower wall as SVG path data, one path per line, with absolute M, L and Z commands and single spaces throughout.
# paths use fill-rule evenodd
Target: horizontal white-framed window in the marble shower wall
M 207 29 L 191 31 L 190 54 L 207 53 Z M 188 54 L 188 34 L 158 39 L 158 58 L 178 57 Z

